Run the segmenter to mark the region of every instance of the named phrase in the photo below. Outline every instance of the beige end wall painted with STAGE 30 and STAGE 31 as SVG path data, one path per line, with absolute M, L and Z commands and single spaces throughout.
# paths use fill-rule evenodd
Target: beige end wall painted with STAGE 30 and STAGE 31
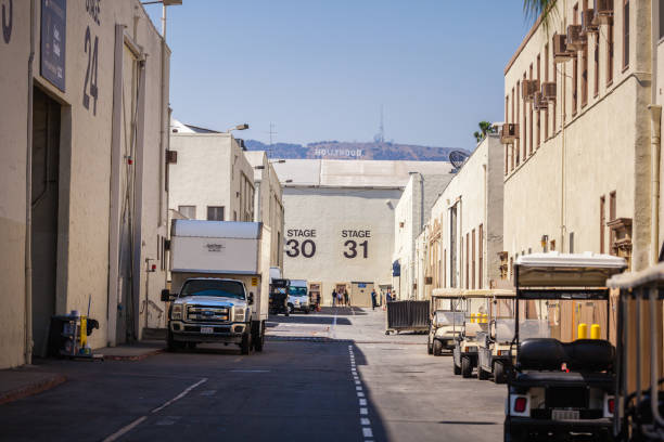
M 400 188 L 306 187 L 286 186 L 283 191 L 285 208 L 284 276 L 321 283 L 324 304 L 335 284 L 367 282 L 382 285 L 392 283 L 392 249 L 394 245 L 394 207 Z M 316 231 L 315 236 L 298 236 L 295 230 Z M 370 237 L 343 237 L 342 231 L 369 231 Z M 305 233 L 305 232 L 303 232 Z M 310 234 L 314 234 L 309 232 Z M 305 233 L 306 234 L 306 233 Z M 311 240 L 316 252 L 307 258 L 294 255 L 294 243 Z M 357 257 L 345 258 L 346 240 L 358 243 Z M 367 258 L 359 243 L 367 240 Z M 306 246 L 311 253 L 310 245 Z M 378 288 L 378 287 L 376 287 Z

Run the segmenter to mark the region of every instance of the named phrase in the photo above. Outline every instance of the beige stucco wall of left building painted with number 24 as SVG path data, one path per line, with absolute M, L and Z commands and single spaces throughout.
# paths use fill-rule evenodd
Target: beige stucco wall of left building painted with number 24
M 100 23 L 86 11 L 85 2 L 67 2 L 65 51 L 65 91 L 60 91 L 40 76 L 40 2 L 36 4 L 36 53 L 34 62 L 35 87 L 46 92 L 61 107 L 60 177 L 58 212 L 58 275 L 55 312 L 69 310 L 87 312 L 100 322 L 100 329 L 90 337 L 90 346 L 103 347 L 108 336 L 108 266 L 110 266 L 110 183 L 112 110 L 114 103 L 115 26 L 126 25 L 128 36 L 149 54 L 145 61 L 145 113 L 143 162 L 145 171 L 139 180 L 145 203 L 142 213 L 144 250 L 139 260 L 157 250 L 157 235 L 165 235 L 165 200 L 163 184 L 163 152 L 167 140 L 161 139 L 162 118 L 167 100 L 162 103 L 162 39 L 138 1 L 101 3 Z M 7 2 L 2 2 L 7 6 Z M 9 9 L 7 10 L 9 13 Z M 30 31 L 30 2 L 14 1 L 12 34 L 9 42 L 0 40 L 0 240 L 3 244 L 0 269 L 5 281 L 1 297 L 8 306 L 0 313 L 0 367 L 25 362 L 25 286 L 24 250 L 26 225 L 26 161 L 28 121 L 28 55 Z M 84 84 L 89 54 L 85 52 L 85 38 L 90 30 L 91 41 L 99 38 L 97 109 L 90 96 L 90 106 L 82 105 Z M 91 50 L 89 49 L 88 52 Z M 165 51 L 168 69 L 169 51 Z M 129 75 L 125 72 L 124 79 Z M 168 74 L 164 75 L 168 95 Z M 90 94 L 90 82 L 87 93 Z M 156 203 L 155 203 L 156 202 Z M 161 204 L 159 204 L 161 202 Z M 156 256 L 155 256 L 156 258 Z M 144 266 L 142 268 L 144 270 Z M 161 265 L 157 266 L 161 269 Z M 141 275 L 144 276 L 144 275 Z M 151 274 L 151 292 L 164 286 L 164 272 Z M 143 284 L 139 284 L 143 287 Z M 141 292 L 141 299 L 143 294 Z M 152 297 L 151 297 L 152 299 Z M 154 298 L 158 299 L 158 296 Z M 115 312 L 112 311 L 111 314 Z M 37 351 L 40 349 L 36 349 Z

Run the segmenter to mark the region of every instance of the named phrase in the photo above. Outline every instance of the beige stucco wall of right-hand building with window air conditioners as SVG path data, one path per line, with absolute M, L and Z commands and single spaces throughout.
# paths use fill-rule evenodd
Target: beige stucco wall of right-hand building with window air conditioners
M 570 234 L 574 234 L 574 251 L 600 251 L 600 197 L 606 200 L 609 221 L 610 193 L 616 192 L 616 218 L 633 219 L 633 266 L 649 263 L 650 192 L 649 192 L 649 120 L 650 101 L 650 2 L 630 2 L 630 60 L 623 69 L 623 10 L 614 16 L 613 81 L 606 82 L 606 25 L 601 26 L 599 39 L 599 93 L 595 96 L 593 53 L 596 38 L 588 47 L 588 101 L 582 103 L 579 52 L 578 107 L 572 109 L 573 62 L 553 64 L 551 35 L 563 29 L 563 22 L 573 22 L 571 3 L 554 16 L 548 34 L 535 27 L 524 40 L 505 75 L 505 94 L 511 101 L 516 81 L 534 67 L 537 77 L 537 55 L 541 60 L 540 80 L 545 77 L 545 44 L 549 43 L 549 81 L 559 70 L 556 127 L 552 125 L 553 105 L 549 119 L 541 112 L 542 143 L 533 153 L 523 143 L 524 103 L 520 101 L 521 140 L 515 143 L 521 161 L 505 179 L 505 247 L 511 259 L 529 250 L 541 251 L 542 235 L 556 240 L 560 251 L 570 250 Z M 577 23 L 580 23 L 578 21 Z M 528 73 L 529 77 L 529 73 Z M 563 82 L 564 80 L 564 82 Z M 529 109 L 529 104 L 526 105 Z M 564 114 L 563 114 L 564 109 Z M 536 113 L 534 113 L 536 118 Z M 529 118 L 529 117 L 528 117 Z M 562 121 L 564 120 L 564 128 Z M 511 104 L 506 121 L 512 120 Z M 545 125 L 550 139 L 544 141 Z M 529 126 L 529 123 L 528 123 Z M 529 127 L 528 127 L 529 130 Z M 536 130 L 536 122 L 534 131 Z M 528 135 L 529 136 L 529 135 Z M 507 146 L 508 164 L 512 147 Z M 610 231 L 605 227 L 604 250 L 610 250 Z M 550 245 L 550 243 L 549 243 Z

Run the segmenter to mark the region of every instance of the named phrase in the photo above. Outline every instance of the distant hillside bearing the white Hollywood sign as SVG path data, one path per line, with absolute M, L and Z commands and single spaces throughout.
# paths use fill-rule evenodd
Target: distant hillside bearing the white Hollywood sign
M 244 142 L 248 151 L 268 151 L 271 158 L 301 159 L 391 159 L 411 161 L 447 161 L 454 147 L 429 147 L 398 143 L 352 143 L 340 141 L 320 141 L 302 144 L 268 144 L 256 140 Z

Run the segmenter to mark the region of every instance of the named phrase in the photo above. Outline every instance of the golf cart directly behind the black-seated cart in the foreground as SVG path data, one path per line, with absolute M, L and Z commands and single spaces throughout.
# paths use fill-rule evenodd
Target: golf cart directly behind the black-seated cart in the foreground
M 477 379 L 494 377 L 507 381 L 507 367 L 512 365 L 510 346 L 514 338 L 514 290 L 494 289 L 486 298 L 488 330 L 477 334 Z

